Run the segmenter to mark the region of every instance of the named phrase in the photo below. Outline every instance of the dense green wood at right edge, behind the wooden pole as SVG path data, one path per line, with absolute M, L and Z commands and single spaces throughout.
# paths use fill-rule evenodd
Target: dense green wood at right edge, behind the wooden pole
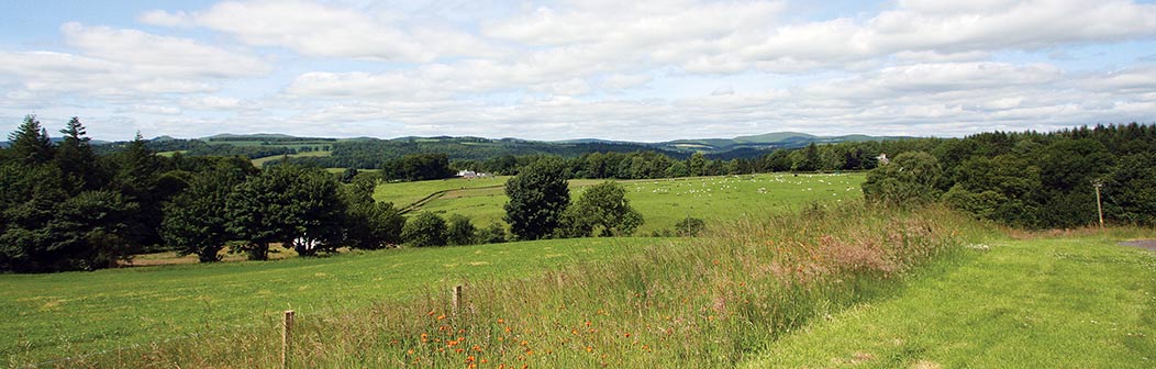
M 1105 221 L 1156 224 L 1156 125 L 990 132 L 896 154 L 868 174 L 868 200 L 942 201 L 1009 226 L 1070 228 L 1098 222 L 1098 187 Z

